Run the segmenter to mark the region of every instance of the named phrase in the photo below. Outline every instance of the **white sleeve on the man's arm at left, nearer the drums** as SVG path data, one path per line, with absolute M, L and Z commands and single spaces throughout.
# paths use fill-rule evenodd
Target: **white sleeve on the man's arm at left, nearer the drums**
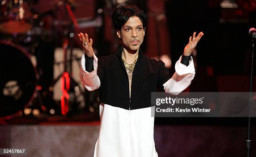
M 85 69 L 85 57 L 84 54 L 81 58 L 80 67 L 80 80 L 82 85 L 88 90 L 93 91 L 100 87 L 100 78 L 97 76 L 98 58 L 93 54 L 93 71 L 87 72 Z

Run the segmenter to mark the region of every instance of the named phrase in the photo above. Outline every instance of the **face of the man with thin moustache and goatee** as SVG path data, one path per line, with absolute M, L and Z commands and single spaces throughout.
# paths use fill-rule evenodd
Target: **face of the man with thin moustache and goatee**
M 136 16 L 130 17 L 121 30 L 117 31 L 117 35 L 121 38 L 126 49 L 138 50 L 145 35 L 140 18 Z

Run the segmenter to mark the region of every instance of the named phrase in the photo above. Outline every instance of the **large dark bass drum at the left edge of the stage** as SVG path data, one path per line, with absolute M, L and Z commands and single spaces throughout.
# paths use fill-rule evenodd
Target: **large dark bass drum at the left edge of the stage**
M 10 118 L 32 100 L 36 71 L 26 51 L 12 42 L 0 41 L 0 117 Z

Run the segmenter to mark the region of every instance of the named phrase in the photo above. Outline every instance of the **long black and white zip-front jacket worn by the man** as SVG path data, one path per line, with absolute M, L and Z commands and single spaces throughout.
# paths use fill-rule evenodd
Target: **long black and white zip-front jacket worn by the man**
M 99 88 L 100 134 L 94 157 L 158 157 L 154 143 L 154 117 L 151 117 L 151 92 L 158 86 L 164 91 L 182 92 L 195 76 L 191 57 L 189 65 L 176 62 L 171 77 L 164 62 L 148 58 L 141 51 L 133 70 L 131 97 L 122 48 L 117 53 L 93 56 L 93 71 L 87 72 L 81 59 L 80 78 L 89 90 Z M 104 114 L 103 114 L 104 112 Z

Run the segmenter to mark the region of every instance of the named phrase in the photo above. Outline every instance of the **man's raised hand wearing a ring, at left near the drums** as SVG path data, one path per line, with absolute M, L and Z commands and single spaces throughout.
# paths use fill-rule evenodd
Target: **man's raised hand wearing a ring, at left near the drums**
M 90 38 L 90 41 L 89 41 L 89 37 L 86 33 L 83 34 L 80 32 L 78 36 L 79 36 L 79 40 L 82 42 L 82 46 L 85 54 L 88 57 L 93 57 L 92 39 Z

